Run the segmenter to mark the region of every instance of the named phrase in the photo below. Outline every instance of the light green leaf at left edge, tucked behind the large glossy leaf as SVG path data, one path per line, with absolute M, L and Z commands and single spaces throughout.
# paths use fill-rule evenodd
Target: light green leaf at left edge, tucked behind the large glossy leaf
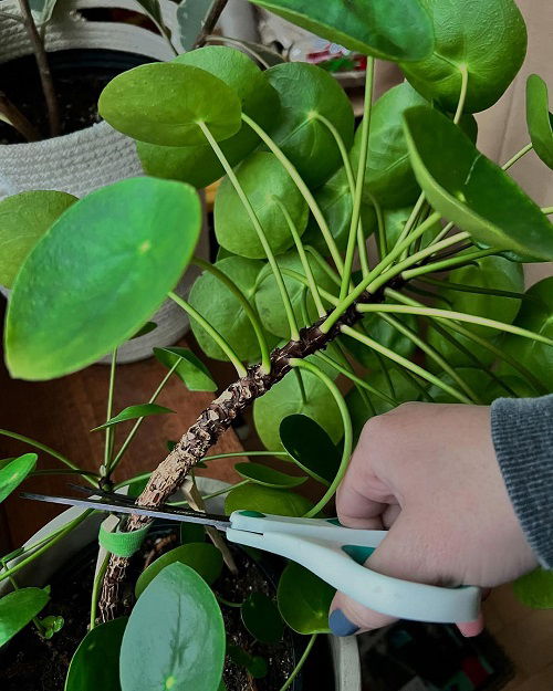
M 76 197 L 40 190 L 20 192 L 0 202 L 0 283 L 13 285 L 29 252 Z

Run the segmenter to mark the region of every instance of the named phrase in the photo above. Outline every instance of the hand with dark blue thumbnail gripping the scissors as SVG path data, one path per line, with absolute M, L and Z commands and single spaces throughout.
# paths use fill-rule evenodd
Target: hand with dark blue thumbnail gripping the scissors
M 366 562 L 388 576 L 488 588 L 538 564 L 495 459 L 486 406 L 404 404 L 372 418 L 336 505 L 343 525 L 389 528 Z M 392 621 L 341 593 L 331 606 L 340 636 Z M 476 636 L 483 621 L 458 627 Z

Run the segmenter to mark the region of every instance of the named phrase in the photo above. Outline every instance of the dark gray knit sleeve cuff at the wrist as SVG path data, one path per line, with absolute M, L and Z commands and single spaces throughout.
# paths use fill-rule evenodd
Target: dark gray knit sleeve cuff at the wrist
M 526 540 L 541 565 L 553 568 L 553 395 L 493 401 L 491 432 Z

